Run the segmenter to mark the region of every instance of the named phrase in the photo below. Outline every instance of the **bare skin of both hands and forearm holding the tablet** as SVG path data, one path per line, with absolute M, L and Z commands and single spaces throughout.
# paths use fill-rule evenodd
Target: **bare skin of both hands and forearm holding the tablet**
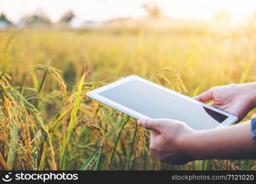
M 210 105 L 233 113 L 242 120 L 256 107 L 256 82 L 217 86 L 194 99 L 213 101 Z M 150 149 L 165 163 L 256 158 L 256 143 L 251 137 L 250 121 L 204 131 L 196 131 L 186 123 L 167 119 L 140 119 L 138 125 L 151 130 Z

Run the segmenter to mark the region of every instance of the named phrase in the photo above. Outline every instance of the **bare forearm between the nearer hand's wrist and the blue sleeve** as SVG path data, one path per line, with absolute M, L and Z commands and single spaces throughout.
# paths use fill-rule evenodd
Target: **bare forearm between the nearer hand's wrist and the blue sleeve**
M 183 140 L 184 152 L 194 159 L 256 158 L 250 121 L 222 129 L 196 131 Z

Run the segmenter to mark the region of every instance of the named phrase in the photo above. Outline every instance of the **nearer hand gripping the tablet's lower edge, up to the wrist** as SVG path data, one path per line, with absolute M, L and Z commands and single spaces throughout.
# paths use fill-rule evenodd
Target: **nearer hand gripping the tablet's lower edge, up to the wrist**
M 138 125 L 150 129 L 150 149 L 164 163 L 185 164 L 193 161 L 186 154 L 183 142 L 196 132 L 185 123 L 167 119 L 140 119 Z

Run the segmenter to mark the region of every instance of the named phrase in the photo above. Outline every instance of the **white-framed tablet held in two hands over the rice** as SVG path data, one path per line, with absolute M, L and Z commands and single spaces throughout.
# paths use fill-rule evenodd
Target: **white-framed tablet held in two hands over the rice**
M 197 130 L 220 128 L 238 121 L 235 115 L 136 75 L 89 91 L 87 96 L 137 119 L 174 119 Z

